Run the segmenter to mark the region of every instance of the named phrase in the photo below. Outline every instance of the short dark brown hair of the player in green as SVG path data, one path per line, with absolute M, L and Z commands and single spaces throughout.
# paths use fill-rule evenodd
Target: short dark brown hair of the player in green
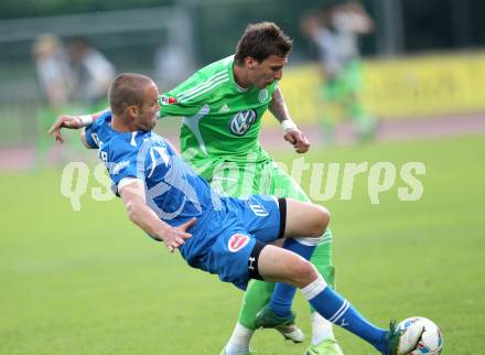
M 244 65 L 250 56 L 259 63 L 270 55 L 287 56 L 293 47 L 293 41 L 273 22 L 249 24 L 236 46 L 234 61 Z

